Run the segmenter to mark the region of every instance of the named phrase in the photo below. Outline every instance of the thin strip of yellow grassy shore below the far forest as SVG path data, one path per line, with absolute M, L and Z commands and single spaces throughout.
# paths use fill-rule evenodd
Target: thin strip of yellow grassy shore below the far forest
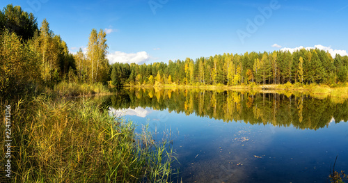
M 126 87 L 134 88 L 165 88 L 165 89 L 192 89 L 199 88 L 203 90 L 244 90 L 257 91 L 262 93 L 286 93 L 286 92 L 300 92 L 315 97 L 343 97 L 348 98 L 348 83 L 341 83 L 336 86 L 317 85 L 317 84 L 300 84 L 300 83 L 285 83 L 272 85 L 257 85 L 250 83 L 248 85 L 225 86 L 225 85 L 177 85 L 177 84 L 157 84 L 157 85 L 126 85 Z

